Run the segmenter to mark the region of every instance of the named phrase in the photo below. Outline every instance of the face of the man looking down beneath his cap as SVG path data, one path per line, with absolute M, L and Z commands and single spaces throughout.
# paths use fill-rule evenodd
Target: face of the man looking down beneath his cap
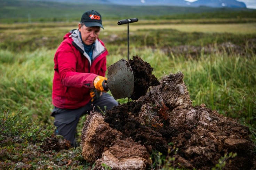
M 78 30 L 81 32 L 83 43 L 91 45 L 98 38 L 101 29 L 98 26 L 87 27 L 85 25 L 81 26 L 81 24 L 78 24 Z

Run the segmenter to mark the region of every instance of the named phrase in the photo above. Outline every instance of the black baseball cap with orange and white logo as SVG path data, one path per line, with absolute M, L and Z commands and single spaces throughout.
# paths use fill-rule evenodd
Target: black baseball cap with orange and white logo
M 103 28 L 101 14 L 94 10 L 83 13 L 80 22 L 84 23 L 87 27 L 99 26 Z

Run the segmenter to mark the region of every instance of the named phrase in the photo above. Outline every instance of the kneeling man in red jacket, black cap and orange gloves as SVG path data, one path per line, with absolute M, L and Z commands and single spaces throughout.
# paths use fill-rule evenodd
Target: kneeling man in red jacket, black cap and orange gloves
M 75 131 L 82 115 L 118 105 L 106 93 L 108 52 L 98 38 L 101 28 L 101 15 L 94 10 L 85 12 L 78 29 L 64 36 L 54 56 L 54 109 L 51 115 L 55 118 L 55 134 L 64 136 L 74 147 L 77 146 Z

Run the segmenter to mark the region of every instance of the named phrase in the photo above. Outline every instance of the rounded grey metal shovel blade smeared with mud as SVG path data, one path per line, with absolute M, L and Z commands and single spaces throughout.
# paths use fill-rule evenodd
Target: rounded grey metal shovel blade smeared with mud
M 114 99 L 131 97 L 134 90 L 134 77 L 133 70 L 126 59 L 121 59 L 109 66 L 107 85 Z

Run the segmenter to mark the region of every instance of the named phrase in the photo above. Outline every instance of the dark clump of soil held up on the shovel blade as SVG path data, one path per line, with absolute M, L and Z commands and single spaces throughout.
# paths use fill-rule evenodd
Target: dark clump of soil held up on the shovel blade
M 131 99 L 136 100 L 144 96 L 150 86 L 159 85 L 159 81 L 152 74 L 153 68 L 150 64 L 144 62 L 139 56 L 133 56 L 133 59 L 129 60 L 129 64 L 134 75 L 134 91 Z

